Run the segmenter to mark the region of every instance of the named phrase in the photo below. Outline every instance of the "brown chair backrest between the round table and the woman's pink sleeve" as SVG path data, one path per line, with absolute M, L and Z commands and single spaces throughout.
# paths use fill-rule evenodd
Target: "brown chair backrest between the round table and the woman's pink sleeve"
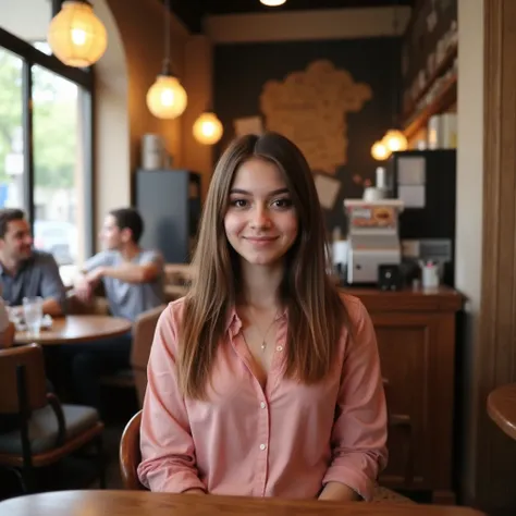
M 133 327 L 133 345 L 131 347 L 131 366 L 133 367 L 139 406 L 144 404 L 145 390 L 147 389 L 147 363 L 155 337 L 156 325 L 165 305 L 140 314 Z

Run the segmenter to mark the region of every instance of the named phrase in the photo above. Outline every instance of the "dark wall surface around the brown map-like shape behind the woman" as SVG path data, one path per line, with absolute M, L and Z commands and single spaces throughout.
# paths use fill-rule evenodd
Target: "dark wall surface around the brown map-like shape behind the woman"
M 371 87 L 372 98 L 358 113 L 347 113 L 347 164 L 336 173 L 343 186 L 334 208 L 327 211 L 328 229 L 339 224 L 344 230 L 343 199 L 363 195 L 363 186 L 354 183 L 353 176 L 374 177 L 378 163 L 371 158 L 370 148 L 393 122 L 393 70 L 400 70 L 400 38 L 217 46 L 213 105 L 224 125 L 224 136 L 216 156 L 234 136 L 234 119 L 261 115 L 259 98 L 267 81 L 282 81 L 319 59 L 347 70 L 355 82 Z

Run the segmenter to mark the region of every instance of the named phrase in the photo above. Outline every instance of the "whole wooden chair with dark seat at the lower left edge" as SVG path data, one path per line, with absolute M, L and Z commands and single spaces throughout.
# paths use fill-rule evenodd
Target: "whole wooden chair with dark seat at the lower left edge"
M 96 409 L 61 405 L 47 392 L 39 345 L 0 351 L 0 415 L 17 415 L 15 428 L 0 433 L 0 466 L 17 472 L 25 492 L 36 490 L 35 468 L 95 444 L 100 488 L 106 488 L 103 423 Z

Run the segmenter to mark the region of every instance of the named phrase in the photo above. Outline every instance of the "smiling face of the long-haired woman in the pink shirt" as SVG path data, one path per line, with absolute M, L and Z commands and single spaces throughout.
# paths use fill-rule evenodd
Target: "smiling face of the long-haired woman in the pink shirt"
M 250 159 L 238 167 L 224 217 L 228 241 L 249 265 L 281 262 L 294 244 L 298 218 L 274 163 Z

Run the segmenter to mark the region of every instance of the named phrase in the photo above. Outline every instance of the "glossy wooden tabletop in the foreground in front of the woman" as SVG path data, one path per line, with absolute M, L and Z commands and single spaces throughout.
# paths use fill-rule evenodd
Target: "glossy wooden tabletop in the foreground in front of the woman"
M 339 503 L 167 494 L 148 491 L 62 491 L 0 502 L 9 516 L 480 516 L 467 507 Z

